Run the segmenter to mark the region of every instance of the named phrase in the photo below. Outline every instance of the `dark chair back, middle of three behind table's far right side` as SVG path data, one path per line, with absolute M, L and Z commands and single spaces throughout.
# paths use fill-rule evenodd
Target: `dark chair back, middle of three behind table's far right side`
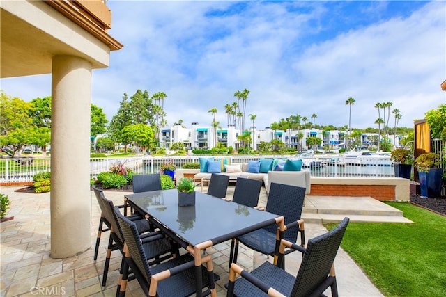
M 262 182 L 258 179 L 238 177 L 232 201 L 247 207 L 256 207 L 259 204 L 261 187 Z

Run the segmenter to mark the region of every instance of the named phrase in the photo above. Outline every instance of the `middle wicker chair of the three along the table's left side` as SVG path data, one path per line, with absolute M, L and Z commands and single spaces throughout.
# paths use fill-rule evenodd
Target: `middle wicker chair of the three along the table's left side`
M 104 192 L 94 188 L 95 195 L 99 196 L 98 203 L 100 205 L 102 214 L 109 223 L 110 236 L 109 243 L 107 246 L 107 255 L 105 257 L 104 264 L 104 273 L 102 275 L 102 287 L 105 287 L 107 283 L 107 275 L 109 271 L 110 258 L 112 256 L 113 250 L 119 250 L 121 254 L 123 254 L 123 258 L 121 260 L 121 268 L 120 274 L 122 274 L 123 268 L 123 259 L 124 259 L 124 241 L 121 229 L 118 225 L 118 218 L 116 217 L 114 209 L 119 211 L 119 207 L 114 207 L 114 204 L 111 200 L 105 198 Z M 158 264 L 164 259 L 169 259 L 173 257 L 173 255 L 178 255 L 178 248 L 176 248 L 176 244 L 167 239 L 165 234 L 160 231 L 157 232 L 147 232 L 148 231 L 148 220 L 145 218 L 138 218 L 138 216 L 130 216 L 127 217 L 128 220 L 132 220 L 134 224 L 137 226 L 138 234 L 141 234 L 141 238 L 143 239 L 143 249 L 146 253 L 147 259 L 151 261 L 148 262 L 149 265 Z M 135 219 L 136 218 L 136 219 Z M 141 230 L 143 232 L 141 232 Z

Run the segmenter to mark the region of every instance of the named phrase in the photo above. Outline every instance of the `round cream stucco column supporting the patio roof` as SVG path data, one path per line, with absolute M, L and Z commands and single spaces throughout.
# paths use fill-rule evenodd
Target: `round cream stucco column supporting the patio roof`
M 52 62 L 51 257 L 66 258 L 91 246 L 91 63 Z

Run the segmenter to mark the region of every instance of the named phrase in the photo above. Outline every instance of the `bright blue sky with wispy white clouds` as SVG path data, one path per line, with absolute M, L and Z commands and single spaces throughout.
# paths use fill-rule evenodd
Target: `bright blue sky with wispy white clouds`
M 413 127 L 446 103 L 445 1 L 108 1 L 123 43 L 93 70 L 92 102 L 107 118 L 123 93 L 164 92 L 169 125 L 226 127 L 224 105 L 247 88 L 256 127 L 300 114 L 320 125 L 376 127 L 392 102 Z M 2 79 L 8 95 L 51 95 L 49 75 Z M 381 113 L 382 116 L 382 113 Z M 249 120 L 245 127 L 251 126 Z M 390 126 L 393 127 L 392 120 Z

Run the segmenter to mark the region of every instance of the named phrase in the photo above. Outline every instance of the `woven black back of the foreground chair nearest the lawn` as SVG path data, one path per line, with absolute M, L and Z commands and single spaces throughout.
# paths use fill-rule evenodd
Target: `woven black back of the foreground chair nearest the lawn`
M 330 232 L 309 239 L 307 249 L 302 256 L 302 263 L 300 264 L 291 296 L 309 296 L 314 294 L 316 288 L 327 281 L 334 257 L 336 257 L 337 250 L 346 232 L 348 221 L 349 218 L 344 218 Z M 331 281 L 334 282 L 335 279 L 332 278 Z M 328 286 L 323 285 L 321 287 L 326 288 Z M 322 292 L 319 293 L 319 295 L 321 294 Z

